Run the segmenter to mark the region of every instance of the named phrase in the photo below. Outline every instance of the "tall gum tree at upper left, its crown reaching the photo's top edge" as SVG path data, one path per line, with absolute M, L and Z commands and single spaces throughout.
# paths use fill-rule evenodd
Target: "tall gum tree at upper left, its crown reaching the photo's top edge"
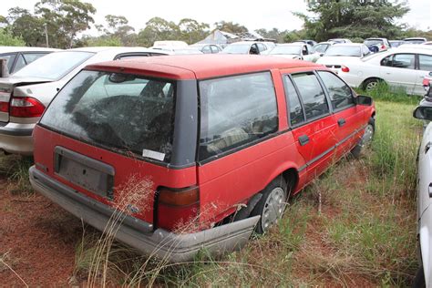
M 79 0 L 41 0 L 35 13 L 46 23 L 51 46 L 71 48 L 77 34 L 95 22 L 92 15 L 96 9 Z

